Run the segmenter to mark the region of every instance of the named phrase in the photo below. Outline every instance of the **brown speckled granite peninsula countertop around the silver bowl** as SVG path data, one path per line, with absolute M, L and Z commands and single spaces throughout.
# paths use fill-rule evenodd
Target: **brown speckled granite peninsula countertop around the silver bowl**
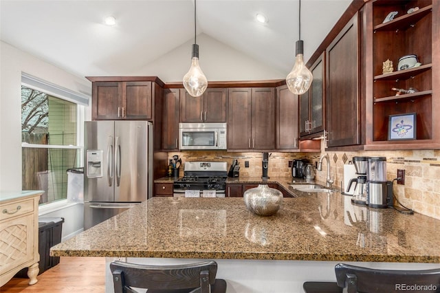
M 50 254 L 440 263 L 437 219 L 353 205 L 338 192 L 296 193 L 271 217 L 243 198 L 153 197 Z

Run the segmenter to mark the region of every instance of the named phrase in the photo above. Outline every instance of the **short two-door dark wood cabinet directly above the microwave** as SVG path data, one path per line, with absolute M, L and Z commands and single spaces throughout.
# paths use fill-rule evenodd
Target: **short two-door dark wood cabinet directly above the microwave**
M 181 89 L 181 122 L 226 122 L 226 89 L 208 88 L 193 97 Z

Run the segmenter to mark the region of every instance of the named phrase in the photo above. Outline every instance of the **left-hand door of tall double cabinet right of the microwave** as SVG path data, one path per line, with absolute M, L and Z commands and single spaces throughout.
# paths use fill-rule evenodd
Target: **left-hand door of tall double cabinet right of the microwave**
M 228 89 L 228 149 L 250 149 L 251 89 Z

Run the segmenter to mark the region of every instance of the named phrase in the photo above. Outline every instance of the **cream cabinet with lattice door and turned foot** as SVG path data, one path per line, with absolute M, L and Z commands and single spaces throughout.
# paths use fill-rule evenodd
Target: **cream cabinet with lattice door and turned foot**
M 39 199 L 43 191 L 0 193 L 0 286 L 28 268 L 29 285 L 39 274 Z

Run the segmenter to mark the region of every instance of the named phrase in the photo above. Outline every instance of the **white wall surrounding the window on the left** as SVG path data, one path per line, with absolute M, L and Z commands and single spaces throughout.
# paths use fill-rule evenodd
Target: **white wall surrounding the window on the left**
M 21 191 L 21 72 L 50 83 L 91 95 L 91 83 L 30 54 L 0 42 L 0 191 Z M 90 120 L 90 110 L 86 120 Z M 44 217 L 64 217 L 63 239 L 83 228 L 83 205 L 66 208 Z

